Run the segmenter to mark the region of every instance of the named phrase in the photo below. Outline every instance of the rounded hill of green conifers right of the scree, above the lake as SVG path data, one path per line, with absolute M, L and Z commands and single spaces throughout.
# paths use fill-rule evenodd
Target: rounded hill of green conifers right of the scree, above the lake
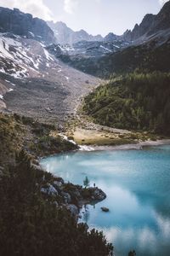
M 170 73 L 128 73 L 101 85 L 83 109 L 100 125 L 170 134 Z

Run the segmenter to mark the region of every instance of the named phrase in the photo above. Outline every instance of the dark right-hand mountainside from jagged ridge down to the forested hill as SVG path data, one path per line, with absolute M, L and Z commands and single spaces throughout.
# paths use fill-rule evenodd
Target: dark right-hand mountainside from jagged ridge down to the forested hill
M 111 38 L 115 39 L 114 34 Z M 122 42 L 122 47 L 118 42 Z M 85 73 L 102 78 L 108 78 L 112 73 L 133 72 L 135 69 L 169 72 L 170 1 L 163 6 L 158 15 L 145 15 L 142 23 L 136 25 L 133 32 L 125 32 L 123 37 L 112 43 L 119 48 L 111 50 L 111 53 L 100 54 L 98 57 L 76 55 L 65 57 L 63 61 Z

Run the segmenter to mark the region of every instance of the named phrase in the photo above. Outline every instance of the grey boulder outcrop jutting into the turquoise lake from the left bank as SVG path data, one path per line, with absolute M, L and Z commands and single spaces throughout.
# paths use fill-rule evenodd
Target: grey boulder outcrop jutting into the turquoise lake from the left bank
M 37 164 L 31 164 L 37 172 L 45 172 Z M 98 187 L 83 188 L 80 185 L 65 183 L 63 178 L 51 175 L 50 183 L 42 185 L 41 193 L 47 198 L 53 199 L 56 207 L 65 207 L 76 219 L 79 217 L 80 209 L 84 204 L 90 204 L 95 201 L 103 201 L 106 198 L 105 192 Z

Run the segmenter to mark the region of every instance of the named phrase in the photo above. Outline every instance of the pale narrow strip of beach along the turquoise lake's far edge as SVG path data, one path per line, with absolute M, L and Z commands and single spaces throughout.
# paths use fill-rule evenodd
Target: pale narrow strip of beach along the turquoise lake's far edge
M 170 144 L 170 139 L 162 139 L 157 141 L 145 141 L 145 142 L 139 142 L 136 144 L 123 144 L 123 145 L 117 145 L 117 146 L 84 145 L 84 146 L 79 146 L 80 148 L 78 149 L 78 151 L 90 152 L 90 151 L 104 151 L 104 150 L 134 150 L 134 149 L 141 150 L 145 147 L 156 147 L 156 146 L 168 145 L 168 144 Z

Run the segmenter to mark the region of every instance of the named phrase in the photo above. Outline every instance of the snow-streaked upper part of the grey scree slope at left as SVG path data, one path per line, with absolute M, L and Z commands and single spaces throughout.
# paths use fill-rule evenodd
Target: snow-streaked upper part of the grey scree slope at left
M 26 78 L 31 73 L 38 74 L 39 69 L 54 61 L 45 46 L 35 40 L 13 35 L 7 38 L 0 34 L 0 72 L 14 78 Z

